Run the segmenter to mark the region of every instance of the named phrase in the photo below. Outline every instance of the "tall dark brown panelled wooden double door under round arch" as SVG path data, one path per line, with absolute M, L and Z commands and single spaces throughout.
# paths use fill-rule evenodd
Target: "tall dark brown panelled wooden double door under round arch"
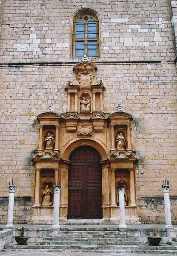
M 102 218 L 100 154 L 89 146 L 75 149 L 69 158 L 68 219 Z

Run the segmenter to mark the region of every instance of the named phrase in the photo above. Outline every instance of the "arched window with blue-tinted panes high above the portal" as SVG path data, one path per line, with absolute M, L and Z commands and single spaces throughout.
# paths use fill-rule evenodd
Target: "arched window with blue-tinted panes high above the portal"
M 98 19 L 94 15 L 77 15 L 73 23 L 73 56 L 99 55 Z

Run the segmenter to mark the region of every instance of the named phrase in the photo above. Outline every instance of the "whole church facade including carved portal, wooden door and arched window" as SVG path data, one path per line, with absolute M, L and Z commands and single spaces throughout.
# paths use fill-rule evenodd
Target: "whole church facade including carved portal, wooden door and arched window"
M 1 0 L 0 223 L 177 223 L 174 0 Z M 13 6 L 13 8 L 12 8 Z

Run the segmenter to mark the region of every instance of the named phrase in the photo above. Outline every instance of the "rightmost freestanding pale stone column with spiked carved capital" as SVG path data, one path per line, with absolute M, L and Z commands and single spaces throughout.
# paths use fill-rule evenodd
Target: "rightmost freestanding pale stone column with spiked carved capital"
M 164 195 L 164 206 L 165 206 L 165 214 L 166 214 L 166 227 L 173 227 L 171 224 L 171 210 L 170 210 L 170 195 L 169 188 L 171 185 L 163 184 L 163 195 Z

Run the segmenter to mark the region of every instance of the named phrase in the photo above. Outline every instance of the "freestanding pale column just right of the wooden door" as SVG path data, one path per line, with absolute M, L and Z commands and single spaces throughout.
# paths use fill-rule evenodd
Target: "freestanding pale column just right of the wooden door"
M 125 216 L 125 201 L 124 201 L 124 191 L 125 185 L 118 185 L 119 189 L 119 215 L 120 215 L 120 224 L 119 228 L 126 228 L 126 216 Z

